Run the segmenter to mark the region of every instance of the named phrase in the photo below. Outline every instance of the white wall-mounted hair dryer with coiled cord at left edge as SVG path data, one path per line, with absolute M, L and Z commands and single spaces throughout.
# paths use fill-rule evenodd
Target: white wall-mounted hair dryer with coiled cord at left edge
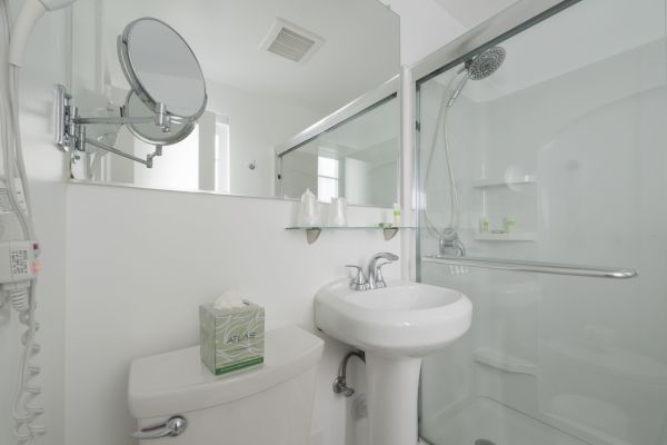
M 11 409 L 16 422 L 14 436 L 19 445 L 30 445 L 47 432 L 46 427 L 38 424 L 43 408 L 33 405 L 33 398 L 40 394 L 39 383 L 34 380 L 40 373 L 40 367 L 31 362 L 39 352 L 39 345 L 34 342 L 34 334 L 38 329 L 34 308 L 39 245 L 34 241 L 28 177 L 21 147 L 19 72 L 26 43 L 34 23 L 44 12 L 64 8 L 73 2 L 74 0 L 23 0 L 9 41 L 7 41 L 7 33 L 3 32 L 0 37 L 2 52 L 7 53 L 9 61 L 7 67 L 0 68 L 7 73 L 0 76 L 0 83 L 2 83 L 0 86 L 0 96 L 2 97 L 0 100 L 2 123 L 0 126 L 2 129 L 0 148 L 7 186 L 6 196 L 23 234 L 22 240 L 0 243 L 0 293 L 2 293 L 0 297 L 4 297 L 0 299 L 11 300 L 12 306 L 19 313 L 20 323 L 27 327 L 26 333 L 21 336 L 24 353 L 21 355 L 19 364 L 19 389 Z M 7 4 L 2 4 L 0 13 L 2 22 L 9 23 L 11 18 Z M 18 181 L 19 185 L 14 181 Z M 20 205 L 17 190 L 20 187 L 23 189 L 24 206 Z

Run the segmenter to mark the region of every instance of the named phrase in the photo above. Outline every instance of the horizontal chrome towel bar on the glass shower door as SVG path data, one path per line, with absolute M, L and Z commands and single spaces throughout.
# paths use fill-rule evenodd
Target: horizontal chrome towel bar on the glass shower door
M 571 277 L 628 279 L 637 275 L 629 268 L 607 268 L 597 266 L 580 266 L 557 263 L 520 261 L 476 257 L 451 257 L 445 255 L 427 255 L 424 263 L 439 263 L 451 266 L 478 267 L 482 269 L 526 271 L 535 274 L 566 275 Z

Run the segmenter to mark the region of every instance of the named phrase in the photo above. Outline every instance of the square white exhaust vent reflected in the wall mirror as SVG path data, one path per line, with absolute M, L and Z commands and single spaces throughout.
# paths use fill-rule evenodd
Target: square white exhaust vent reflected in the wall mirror
M 305 63 L 325 39 L 287 20 L 276 19 L 260 48 L 295 62 Z

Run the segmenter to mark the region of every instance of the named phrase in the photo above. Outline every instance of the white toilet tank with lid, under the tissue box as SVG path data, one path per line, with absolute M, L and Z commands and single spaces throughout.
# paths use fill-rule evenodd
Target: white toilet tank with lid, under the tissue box
M 265 363 L 216 376 L 199 346 L 138 358 L 130 366 L 128 402 L 138 431 L 187 421 L 178 436 L 141 445 L 307 445 L 317 362 L 323 342 L 295 327 L 267 330 Z

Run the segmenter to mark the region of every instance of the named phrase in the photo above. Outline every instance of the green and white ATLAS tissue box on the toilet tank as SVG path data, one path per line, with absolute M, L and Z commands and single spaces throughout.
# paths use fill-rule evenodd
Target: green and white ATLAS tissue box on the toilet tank
M 263 363 L 265 310 L 253 303 L 215 309 L 199 307 L 201 360 L 216 375 Z

